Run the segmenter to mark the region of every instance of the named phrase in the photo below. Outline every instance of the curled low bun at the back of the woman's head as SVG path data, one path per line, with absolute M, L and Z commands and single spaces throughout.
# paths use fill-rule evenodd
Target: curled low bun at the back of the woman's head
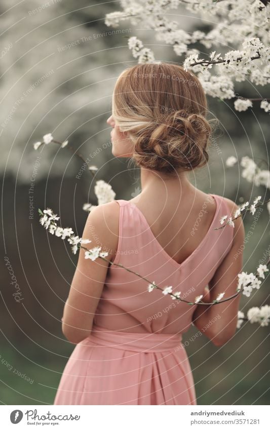
M 166 173 L 177 168 L 193 170 L 208 162 L 210 134 L 211 126 L 203 115 L 177 110 L 165 116 L 163 122 L 144 129 L 133 158 L 141 166 Z

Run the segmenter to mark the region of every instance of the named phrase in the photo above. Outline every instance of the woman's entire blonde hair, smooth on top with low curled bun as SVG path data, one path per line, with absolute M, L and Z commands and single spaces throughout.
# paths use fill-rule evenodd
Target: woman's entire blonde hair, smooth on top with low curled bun
M 137 64 L 115 84 L 112 114 L 134 143 L 135 164 L 173 173 L 203 167 L 211 134 L 197 76 L 170 63 Z M 176 172 L 177 173 L 177 172 Z

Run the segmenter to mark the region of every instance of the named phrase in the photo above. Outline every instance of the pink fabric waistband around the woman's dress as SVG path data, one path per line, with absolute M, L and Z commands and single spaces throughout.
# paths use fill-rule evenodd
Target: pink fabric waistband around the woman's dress
M 129 333 L 93 325 L 84 343 L 93 341 L 101 346 L 126 349 L 138 353 L 170 351 L 181 346 L 182 335 L 167 333 Z

